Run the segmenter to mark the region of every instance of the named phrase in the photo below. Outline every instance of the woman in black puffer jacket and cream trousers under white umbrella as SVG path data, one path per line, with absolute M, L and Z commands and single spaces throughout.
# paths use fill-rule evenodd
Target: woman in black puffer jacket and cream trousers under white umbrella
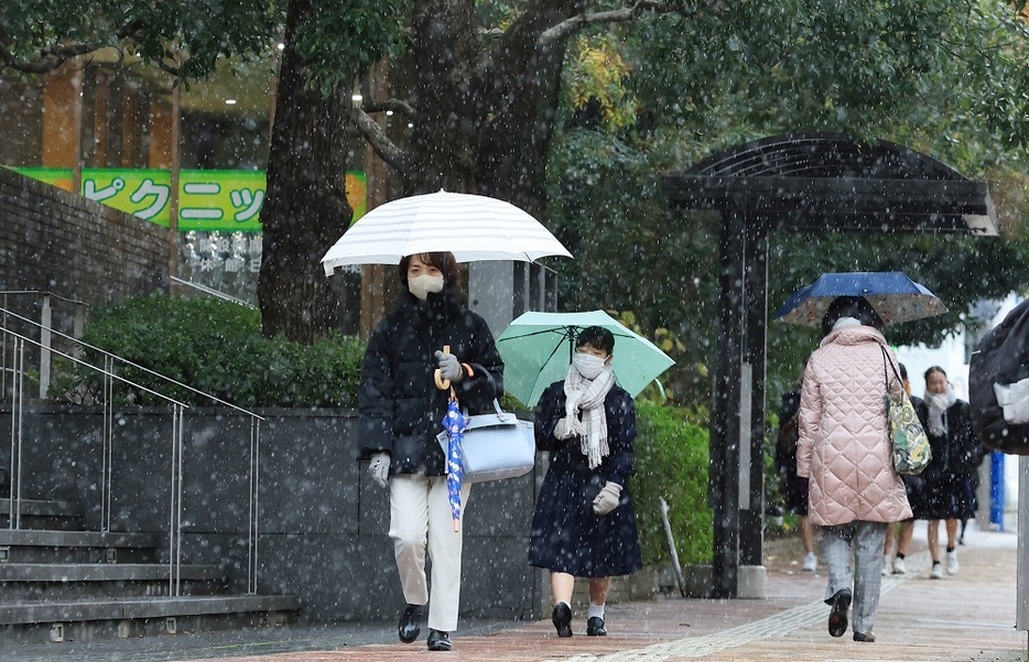
M 434 371 L 449 380 L 462 406 L 488 410 L 502 393 L 503 362 L 486 321 L 458 302 L 452 253 L 408 256 L 399 278 L 397 308 L 379 321 L 361 366 L 359 458 L 370 460 L 372 480 L 389 489 L 389 535 L 407 603 L 397 634 L 404 643 L 418 639 L 427 603 L 429 650 L 448 651 L 457 629 L 462 533 L 454 531 L 436 442 L 451 389 L 437 388 Z M 462 516 L 469 491 L 468 484 L 461 491 Z

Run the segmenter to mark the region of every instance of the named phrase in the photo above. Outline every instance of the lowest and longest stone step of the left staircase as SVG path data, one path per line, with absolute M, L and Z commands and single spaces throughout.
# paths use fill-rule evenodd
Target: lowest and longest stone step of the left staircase
M 91 641 L 295 622 L 296 596 L 176 596 L 0 601 L 0 639 Z

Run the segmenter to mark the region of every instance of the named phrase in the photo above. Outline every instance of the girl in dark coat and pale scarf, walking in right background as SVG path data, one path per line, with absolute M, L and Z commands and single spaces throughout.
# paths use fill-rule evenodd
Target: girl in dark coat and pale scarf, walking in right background
M 925 433 L 932 448 L 932 459 L 922 471 L 925 479 L 925 499 L 917 503 L 914 516 L 929 520 L 929 554 L 932 569 L 929 576 L 943 578 L 940 563 L 940 520 L 946 529 L 946 573 L 956 575 L 957 522 L 975 516 L 975 487 L 978 466 L 985 449 L 972 428 L 970 405 L 958 400 L 939 366 L 925 371 Z

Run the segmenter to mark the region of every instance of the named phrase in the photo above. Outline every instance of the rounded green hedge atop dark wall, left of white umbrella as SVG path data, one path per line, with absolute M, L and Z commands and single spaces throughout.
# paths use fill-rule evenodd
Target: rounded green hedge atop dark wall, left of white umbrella
M 342 335 L 310 347 L 282 336 L 266 338 L 257 311 L 206 297 L 132 297 L 107 303 L 90 313 L 83 340 L 242 408 L 355 406 L 365 351 L 364 343 Z M 84 359 L 102 366 L 95 352 L 86 351 Z M 80 366 L 69 369 L 66 361 L 61 367 L 55 366 L 52 399 L 96 399 L 101 390 L 99 373 Z M 116 365 L 116 372 L 186 404 L 215 404 L 133 367 Z M 163 401 L 116 382 L 115 402 Z

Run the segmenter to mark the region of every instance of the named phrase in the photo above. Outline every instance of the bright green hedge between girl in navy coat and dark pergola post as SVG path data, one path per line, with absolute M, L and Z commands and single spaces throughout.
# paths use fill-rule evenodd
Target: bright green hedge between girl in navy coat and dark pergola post
M 669 506 L 679 562 L 711 563 L 714 527 L 707 507 L 705 416 L 645 400 L 636 406 L 639 434 L 631 487 L 643 563 L 663 565 L 671 557 L 658 501 L 661 497 Z

